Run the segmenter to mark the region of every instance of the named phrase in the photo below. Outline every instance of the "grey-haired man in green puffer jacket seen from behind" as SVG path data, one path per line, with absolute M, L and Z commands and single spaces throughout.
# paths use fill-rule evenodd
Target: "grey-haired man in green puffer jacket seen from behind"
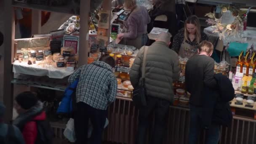
M 145 69 L 145 88 L 147 106 L 139 109 L 139 128 L 136 144 L 145 144 L 149 115 L 155 112 L 155 126 L 152 133 L 152 144 L 162 144 L 166 128 L 166 116 L 173 101 L 173 81 L 179 79 L 180 67 L 177 53 L 168 48 L 171 34 L 161 33 L 155 43 L 148 48 Z M 137 54 L 131 67 L 130 80 L 135 88 L 141 84 L 141 72 L 144 47 Z

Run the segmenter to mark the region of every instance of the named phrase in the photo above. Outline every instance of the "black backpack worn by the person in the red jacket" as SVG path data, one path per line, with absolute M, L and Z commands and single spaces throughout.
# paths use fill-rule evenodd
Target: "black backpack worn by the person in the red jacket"
M 37 139 L 35 144 L 53 144 L 54 132 L 47 120 L 36 120 Z

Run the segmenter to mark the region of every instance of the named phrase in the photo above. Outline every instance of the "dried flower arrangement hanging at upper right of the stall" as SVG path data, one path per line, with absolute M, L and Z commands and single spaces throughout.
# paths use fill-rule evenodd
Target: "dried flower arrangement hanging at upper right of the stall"
M 243 29 L 243 11 L 240 10 L 238 5 L 219 5 L 222 13 L 227 11 L 232 12 L 232 16 L 235 20 L 231 24 L 222 24 L 221 19 L 215 17 L 215 13 L 206 13 L 205 16 L 208 17 L 206 20 L 207 24 L 212 25 L 213 33 L 219 33 L 219 37 L 225 38 L 226 36 L 238 35 L 240 30 Z

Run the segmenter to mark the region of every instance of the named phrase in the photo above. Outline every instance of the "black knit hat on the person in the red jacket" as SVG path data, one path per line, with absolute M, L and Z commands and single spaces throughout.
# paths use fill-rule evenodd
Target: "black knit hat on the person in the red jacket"
M 38 101 L 37 97 L 30 91 L 20 93 L 16 96 L 15 100 L 23 109 L 30 109 L 35 106 Z

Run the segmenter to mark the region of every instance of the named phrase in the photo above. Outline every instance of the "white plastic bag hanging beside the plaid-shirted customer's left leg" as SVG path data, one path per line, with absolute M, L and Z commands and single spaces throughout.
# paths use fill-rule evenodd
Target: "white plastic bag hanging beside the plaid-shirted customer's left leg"
M 76 141 L 74 119 L 69 119 L 63 134 L 70 142 Z

